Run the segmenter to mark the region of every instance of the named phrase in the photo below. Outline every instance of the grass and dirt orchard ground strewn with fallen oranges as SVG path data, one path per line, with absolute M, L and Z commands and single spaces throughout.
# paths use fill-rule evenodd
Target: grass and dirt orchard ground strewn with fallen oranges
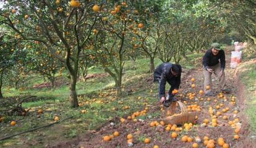
M 1 147 L 128 147 L 127 134 L 133 135 L 133 147 L 192 147 L 195 137 L 199 136 L 202 143 L 199 147 L 205 147 L 203 137 L 209 139 L 223 138 L 229 147 L 254 147 L 255 139 L 255 60 L 250 60 L 241 64 L 236 70 L 229 68 L 230 47 L 226 49 L 226 81 L 231 94 L 218 95 L 218 85 L 213 76 L 213 89 L 216 96 L 209 99 L 200 96 L 198 91 L 203 89 L 202 53 L 190 53 L 188 59 L 181 62 L 184 70 L 182 76 L 181 89 L 178 97 L 181 101 L 186 101 L 186 105 L 197 105 L 200 109 L 198 120 L 189 130 L 184 126 L 181 131 L 166 131 L 166 126 L 151 127 L 151 121 L 158 121 L 165 116 L 164 109 L 158 104 L 158 85 L 152 83 L 152 75 L 148 73 L 149 59 L 138 59 L 137 62 L 127 61 L 124 71 L 124 87 L 122 96 L 117 97 L 113 89 L 114 81 L 106 75 L 101 68 L 92 67 L 86 83 L 82 81 L 77 84 L 79 94 L 79 108 L 70 109 L 68 104 L 67 78 L 59 76 L 57 88 L 51 90 L 46 86 L 40 76 L 31 76 L 28 82 L 28 89 L 17 91 L 11 88 L 5 94 L 6 101 L 1 102 L 1 109 L 4 104 L 10 101 L 15 102 L 17 96 L 36 96 L 28 102 L 24 102 L 22 107 L 30 109 L 25 116 L 6 116 L 1 124 L 0 138 L 26 131 L 38 126 L 47 125 L 54 122 L 54 117 L 58 116 L 60 122 L 40 130 L 21 134 L 14 138 L 0 141 Z M 155 60 L 155 65 L 160 64 L 160 60 Z M 235 75 L 236 74 L 236 75 Z M 191 88 L 191 78 L 195 78 L 195 89 Z M 34 87 L 33 87 L 34 86 Z M 169 88 L 166 87 L 166 89 Z M 6 92 L 7 88 L 4 89 Z M 190 99 L 187 94 L 190 94 Z M 195 95 L 193 96 L 192 94 Z M 226 100 L 224 99 L 226 98 Z M 12 100 L 10 100 L 12 99 Z M 217 109 L 216 106 L 220 109 Z M 209 114 L 209 108 L 214 109 L 213 115 L 218 120 L 217 126 L 212 126 L 213 115 Z M 137 120 L 129 120 L 127 117 L 135 112 L 145 110 L 147 113 L 136 117 Z M 223 109 L 229 109 L 223 112 Z M 43 113 L 38 115 L 38 110 Z M 83 111 L 82 111 L 83 110 Z M 234 113 L 237 110 L 238 113 Z M 145 111 L 144 111 L 145 112 Z M 224 120 L 226 115 L 228 120 Z M 64 118 L 72 117 L 61 121 Z M 249 117 L 249 118 L 247 118 Z M 121 123 L 120 118 L 126 120 Z M 207 126 L 202 126 L 205 119 L 208 119 Z M 238 119 L 238 121 L 237 121 Z M 10 122 L 16 121 L 15 126 Z M 232 121 L 233 124 L 229 124 Z M 114 126 L 110 125 L 113 122 Z M 241 129 L 235 133 L 237 123 L 241 123 Z M 231 126 L 233 125 L 233 127 Z M 119 132 L 119 136 L 111 141 L 103 141 L 103 136 L 109 136 Z M 171 138 L 171 133 L 176 132 L 177 138 Z M 234 139 L 234 135 L 239 135 L 239 139 Z M 187 135 L 194 139 L 193 142 L 182 142 L 182 136 Z M 150 143 L 145 144 L 144 139 L 150 138 Z M 216 147 L 218 144 L 215 144 Z

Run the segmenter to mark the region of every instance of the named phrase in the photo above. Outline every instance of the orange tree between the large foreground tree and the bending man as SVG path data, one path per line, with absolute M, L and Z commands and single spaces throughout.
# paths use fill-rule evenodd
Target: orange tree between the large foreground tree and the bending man
M 101 5 L 101 24 L 94 30 L 96 57 L 105 72 L 114 79 L 117 92 L 121 92 L 122 72 L 130 49 L 130 40 L 141 27 L 135 22 L 133 8 L 128 2 L 110 2 Z

